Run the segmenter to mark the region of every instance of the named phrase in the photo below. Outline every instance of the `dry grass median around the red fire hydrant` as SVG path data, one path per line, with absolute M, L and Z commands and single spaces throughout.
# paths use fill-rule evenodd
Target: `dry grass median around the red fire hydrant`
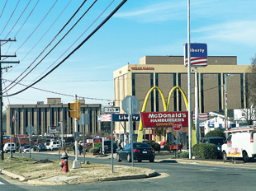
M 69 172 L 64 173 L 59 167 L 59 160 L 35 160 L 23 156 L 14 156 L 9 159 L 5 154 L 5 160 L 0 161 L 0 169 L 7 170 L 16 175 L 29 179 L 49 179 L 58 175 L 79 176 L 81 179 L 102 179 L 129 175 L 149 175 L 154 170 L 126 165 L 114 165 L 114 173 L 111 173 L 111 165 L 97 163 L 81 164 L 82 168 L 72 169 L 73 161 L 69 161 Z

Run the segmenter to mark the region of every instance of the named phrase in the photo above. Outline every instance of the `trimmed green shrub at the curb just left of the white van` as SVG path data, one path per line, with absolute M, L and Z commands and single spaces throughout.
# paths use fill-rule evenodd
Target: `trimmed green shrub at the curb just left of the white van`
M 212 143 L 199 143 L 192 147 L 193 156 L 200 159 L 216 159 L 217 146 Z

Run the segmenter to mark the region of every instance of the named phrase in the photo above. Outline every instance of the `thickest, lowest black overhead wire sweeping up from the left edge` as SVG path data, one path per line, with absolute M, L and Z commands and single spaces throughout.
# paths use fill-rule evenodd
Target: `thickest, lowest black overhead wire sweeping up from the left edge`
M 123 4 L 125 4 L 126 1 L 127 0 L 123 0 L 122 2 L 120 2 L 119 5 L 117 5 L 117 7 L 100 23 L 100 25 L 97 26 L 97 28 L 95 30 L 93 30 L 90 35 L 88 35 L 87 38 L 85 38 L 80 44 L 78 44 L 78 46 L 75 49 L 73 49 L 73 51 L 71 51 L 71 53 L 69 53 L 54 68 L 52 68 L 49 72 L 45 73 L 45 75 L 43 77 L 40 77 L 40 79 L 38 79 L 36 82 L 32 83 L 30 86 L 27 86 L 26 88 L 22 89 L 21 91 L 17 91 L 16 93 L 13 93 L 13 94 L 10 94 L 10 95 L 0 95 L 0 96 L 7 97 L 7 96 L 12 96 L 12 95 L 20 94 L 21 92 L 26 91 L 31 86 L 34 86 L 36 83 L 40 82 L 42 79 L 47 77 L 51 72 L 55 71 L 55 69 L 58 68 L 62 63 L 64 63 L 65 60 L 67 60 L 73 53 L 75 53 L 78 49 L 80 49 L 82 47 L 82 45 L 84 43 L 86 43 L 92 37 L 92 35 L 94 35 L 97 32 L 97 30 L 99 30 L 106 23 L 111 18 L 111 16 L 113 16 L 121 8 L 121 6 Z

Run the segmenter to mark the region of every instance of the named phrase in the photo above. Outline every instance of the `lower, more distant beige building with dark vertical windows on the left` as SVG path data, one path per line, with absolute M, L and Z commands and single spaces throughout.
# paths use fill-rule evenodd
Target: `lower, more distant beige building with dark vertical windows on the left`
M 90 124 L 85 125 L 85 133 L 95 134 L 101 132 L 101 123 L 97 122 L 97 115 L 101 112 L 100 104 L 85 104 L 81 102 L 81 114 L 90 114 Z M 17 116 L 17 122 L 12 118 Z M 63 122 L 64 134 L 75 132 L 74 119 L 69 118 L 68 104 L 62 104 L 60 98 L 47 98 L 46 104 L 39 101 L 37 105 L 7 105 L 7 135 L 27 134 L 26 127 L 33 126 L 34 134 L 48 134 L 48 127 L 60 126 Z M 83 133 L 83 126 L 78 125 L 78 132 Z

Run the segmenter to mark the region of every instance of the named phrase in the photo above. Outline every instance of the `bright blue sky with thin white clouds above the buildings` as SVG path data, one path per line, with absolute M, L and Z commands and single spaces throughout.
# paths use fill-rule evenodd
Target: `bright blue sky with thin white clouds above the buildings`
M 113 72 L 117 69 L 139 64 L 146 55 L 183 56 L 187 1 L 128 0 L 78 49 L 121 0 L 98 0 L 87 12 L 94 2 L 88 0 L 73 16 L 82 2 L 2 0 L 0 40 L 17 40 L 1 42 L 2 55 L 17 55 L 2 60 L 20 61 L 2 63 L 2 68 L 12 66 L 2 69 L 4 107 L 36 105 L 52 97 L 67 104 L 74 95 L 83 97 L 86 104 L 107 105 L 114 100 Z M 255 7 L 254 0 L 190 1 L 191 42 L 206 43 L 208 56 L 237 56 L 238 65 L 250 65 L 256 54 Z M 17 93 L 60 62 L 40 82 Z

